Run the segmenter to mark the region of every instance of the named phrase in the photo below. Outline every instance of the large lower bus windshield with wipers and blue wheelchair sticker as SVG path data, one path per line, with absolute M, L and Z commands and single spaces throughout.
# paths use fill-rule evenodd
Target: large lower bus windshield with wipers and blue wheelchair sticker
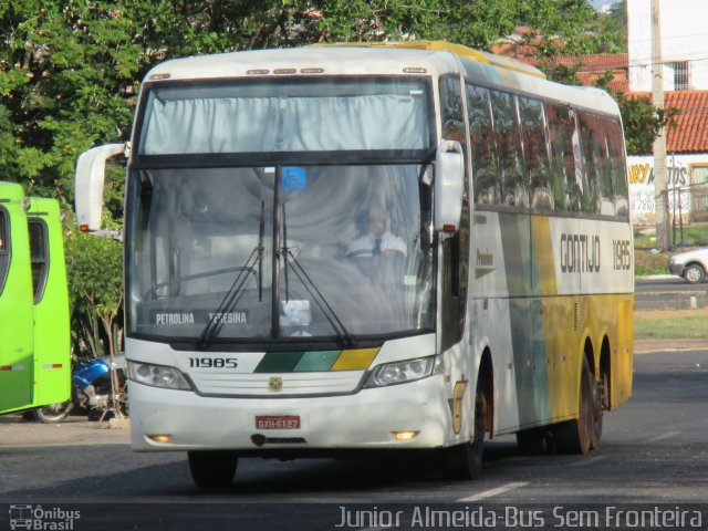
M 217 344 L 431 331 L 430 171 L 133 170 L 129 333 Z

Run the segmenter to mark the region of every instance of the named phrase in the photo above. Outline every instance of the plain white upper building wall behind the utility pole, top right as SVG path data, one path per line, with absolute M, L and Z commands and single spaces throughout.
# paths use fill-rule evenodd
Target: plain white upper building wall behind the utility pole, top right
M 668 63 L 689 61 L 690 90 L 708 88 L 708 1 L 659 0 L 664 88 L 674 90 Z M 652 0 L 627 0 L 629 91 L 652 92 Z

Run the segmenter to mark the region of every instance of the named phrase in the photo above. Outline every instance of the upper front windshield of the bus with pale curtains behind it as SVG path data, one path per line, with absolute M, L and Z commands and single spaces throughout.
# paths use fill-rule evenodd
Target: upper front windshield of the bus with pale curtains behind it
M 429 149 L 429 83 L 303 77 L 148 85 L 138 155 Z

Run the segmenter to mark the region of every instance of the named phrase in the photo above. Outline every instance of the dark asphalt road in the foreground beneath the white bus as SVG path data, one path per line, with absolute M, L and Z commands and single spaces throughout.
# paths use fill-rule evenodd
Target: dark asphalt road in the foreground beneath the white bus
M 548 512 L 574 503 L 684 507 L 708 501 L 708 351 L 638 355 L 634 376 L 633 399 L 605 417 L 600 450 L 585 457 L 527 457 L 519 454 L 513 438 L 500 438 L 488 445 L 483 478 L 467 482 L 444 481 L 425 458 L 367 462 L 243 459 L 231 488 L 204 492 L 192 487 L 183 454 L 133 454 L 125 430 L 100 430 L 82 421 L 38 427 L 3 419 L 0 503 L 123 503 L 81 506 L 84 522 L 91 521 L 91 511 L 97 508 L 100 514 L 110 514 L 110 521 L 101 520 L 106 529 L 127 529 L 127 524 L 177 529 L 185 524 L 184 529 L 293 530 L 335 529 L 341 507 L 371 512 L 374 507 L 404 504 L 404 514 L 410 519 L 416 507 L 435 503 L 471 508 L 493 503 L 492 509 L 511 507 L 512 511 L 523 504 L 550 503 L 540 506 Z M 23 429 L 42 431 L 44 442 L 60 446 L 1 446 L 7 445 L 8 434 Z M 103 444 L 66 445 L 84 430 L 93 430 Z M 156 514 L 157 523 L 171 524 L 155 527 Z M 0 530 L 7 529 L 2 518 L 0 506 Z M 558 523 L 548 514 L 543 518 L 549 528 Z M 199 528 L 200 522 L 208 527 Z

